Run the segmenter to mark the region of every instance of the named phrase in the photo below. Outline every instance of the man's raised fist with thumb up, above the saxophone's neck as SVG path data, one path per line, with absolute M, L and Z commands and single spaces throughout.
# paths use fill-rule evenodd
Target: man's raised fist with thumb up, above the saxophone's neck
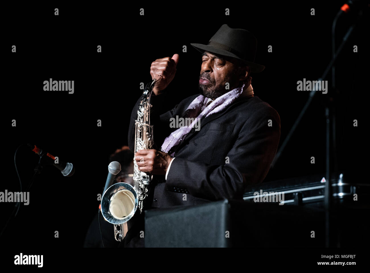
M 153 88 L 153 92 L 155 95 L 162 93 L 162 91 L 174 79 L 178 62 L 178 54 L 174 54 L 172 58 L 165 57 L 163 59 L 157 59 L 152 62 L 152 65 L 150 67 L 150 75 L 152 76 L 152 79 L 157 79 Z

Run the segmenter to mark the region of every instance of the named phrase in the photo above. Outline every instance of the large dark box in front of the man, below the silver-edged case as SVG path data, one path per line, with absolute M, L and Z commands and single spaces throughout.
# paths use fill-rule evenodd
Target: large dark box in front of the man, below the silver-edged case
M 227 199 L 157 208 L 145 211 L 145 247 L 323 247 L 323 216 L 316 208 Z

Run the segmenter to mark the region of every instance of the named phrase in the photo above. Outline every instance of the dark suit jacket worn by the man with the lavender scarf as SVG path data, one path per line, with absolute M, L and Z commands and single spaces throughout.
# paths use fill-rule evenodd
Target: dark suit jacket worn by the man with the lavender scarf
M 164 139 L 177 129 L 170 128 L 170 118 L 182 117 L 199 96 L 190 96 L 171 109 L 172 92 L 152 94 L 150 101 L 150 122 L 154 125 L 154 143 L 158 150 Z M 128 132 L 131 151 L 134 151 L 139 102 L 140 98 L 132 110 Z M 266 177 L 279 138 L 280 117 L 276 110 L 256 96 L 240 96 L 222 112 L 203 118 L 200 130 L 193 128 L 178 147 L 169 152 L 175 151 L 175 159 L 167 180 L 164 175 L 154 175 L 145 208 L 241 199 L 247 185 L 260 183 Z

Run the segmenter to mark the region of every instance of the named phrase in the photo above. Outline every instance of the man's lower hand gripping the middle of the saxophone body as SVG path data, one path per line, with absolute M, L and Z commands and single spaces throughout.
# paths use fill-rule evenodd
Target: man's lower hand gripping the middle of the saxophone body
M 155 149 L 139 150 L 135 157 L 139 171 L 158 175 L 166 174 L 168 165 L 172 160 L 171 155 Z

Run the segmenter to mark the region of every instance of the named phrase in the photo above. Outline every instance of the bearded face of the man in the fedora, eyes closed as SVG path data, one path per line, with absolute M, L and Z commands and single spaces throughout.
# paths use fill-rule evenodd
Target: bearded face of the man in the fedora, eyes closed
M 199 76 L 199 92 L 207 98 L 216 99 L 226 92 L 235 89 L 239 84 L 236 75 L 237 66 L 226 60 L 223 56 L 217 56 L 210 52 L 204 52 L 202 56 L 201 75 Z M 226 89 L 226 82 L 229 89 Z

